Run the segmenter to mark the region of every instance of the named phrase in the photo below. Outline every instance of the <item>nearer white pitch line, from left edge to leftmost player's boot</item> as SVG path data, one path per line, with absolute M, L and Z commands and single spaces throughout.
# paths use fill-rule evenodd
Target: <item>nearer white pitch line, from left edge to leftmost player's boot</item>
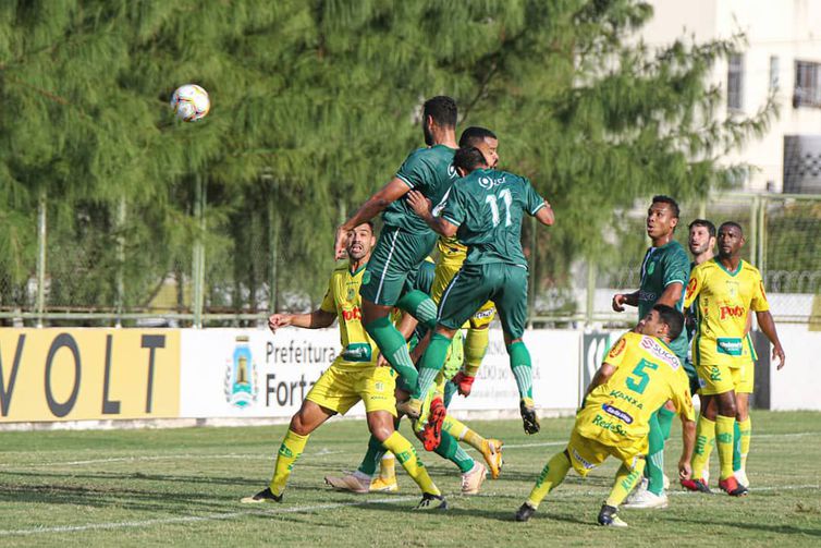
M 397 502 L 407 502 L 409 500 L 416 500 L 418 497 L 392 497 L 390 499 L 375 499 L 363 500 L 360 502 L 334 502 L 329 504 L 315 504 L 310 507 L 292 507 L 292 508 L 277 508 L 272 510 L 246 510 L 243 512 L 225 512 L 221 514 L 208 514 L 208 515 L 184 515 L 180 517 L 161 517 L 157 520 L 143 520 L 133 522 L 103 522 L 103 523 L 87 523 L 84 525 L 62 525 L 57 527 L 33 527 L 28 529 L 0 529 L 0 536 L 17 536 L 17 535 L 42 535 L 49 533 L 77 533 L 83 531 L 95 529 L 120 529 L 127 527 L 145 527 L 150 525 L 168 525 L 174 523 L 196 523 L 196 522 L 211 522 L 219 520 L 233 520 L 235 517 L 243 517 L 246 515 L 277 515 L 277 514 L 292 514 L 299 512 L 321 512 L 326 510 L 334 510 L 345 507 L 363 507 L 367 504 L 394 504 Z

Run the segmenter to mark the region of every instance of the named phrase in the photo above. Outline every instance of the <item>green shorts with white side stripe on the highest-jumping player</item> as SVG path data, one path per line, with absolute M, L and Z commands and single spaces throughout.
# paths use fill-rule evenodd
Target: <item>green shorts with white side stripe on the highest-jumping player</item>
M 359 294 L 371 303 L 394 306 L 413 285 L 416 270 L 436 243 L 432 231 L 412 234 L 393 227 L 382 229 L 365 268 Z

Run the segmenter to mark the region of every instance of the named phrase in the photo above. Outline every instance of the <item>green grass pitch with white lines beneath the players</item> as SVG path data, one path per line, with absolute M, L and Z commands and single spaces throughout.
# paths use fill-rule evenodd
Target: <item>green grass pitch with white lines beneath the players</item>
M 819 546 L 821 414 L 753 414 L 750 496 L 686 494 L 665 510 L 624 510 L 628 529 L 595 526 L 614 463 L 585 480 L 571 473 L 529 523 L 512 521 L 569 418 L 534 437 L 517 421 L 477 422 L 504 439 L 505 465 L 477 497 L 458 496 L 455 467 L 422 455 L 451 510 L 412 512 L 419 496 L 400 472 L 395 495 L 329 490 L 327 473 L 352 470 L 367 439 L 362 422 L 316 433 L 281 506 L 238 499 L 265 487 L 285 426 L 120 431 L 0 433 L 0 546 Z M 406 430 L 404 430 L 407 434 Z M 667 449 L 673 477 L 681 428 Z M 420 453 L 422 452 L 419 448 Z M 473 453 L 476 455 L 476 453 Z M 713 476 L 716 476 L 713 459 Z

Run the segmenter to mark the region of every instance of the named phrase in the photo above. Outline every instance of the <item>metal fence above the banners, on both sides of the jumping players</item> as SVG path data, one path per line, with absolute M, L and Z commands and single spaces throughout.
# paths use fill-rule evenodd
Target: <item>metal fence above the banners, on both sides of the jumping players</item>
M 218 206 L 208 198 L 203 181 L 192 181 L 186 215 L 170 221 L 188 230 L 169 240 L 155 231 L 169 220 L 155 219 L 150 208 L 89 204 L 65 211 L 44 196 L 25 230 L 7 234 L 14 253 L 0 254 L 0 324 L 247 326 L 273 309 L 308 309 L 301 280 L 290 279 L 301 276 L 291 269 L 298 257 L 284 245 L 275 193 L 265 207 L 243 211 L 243 222 L 229 218 L 218 227 L 209 221 Z M 635 314 L 614 313 L 611 299 L 638 288 L 647 202 L 614 211 L 603 251 L 566 265 L 562 277 L 546 268 L 556 263 L 546 231 L 526 230 L 538 277 L 530 283 L 531 325 L 635 321 Z M 739 222 L 744 258 L 761 270 L 776 320 L 821 326 L 821 196 L 734 193 L 682 204 L 676 238 L 685 246 L 696 218 Z

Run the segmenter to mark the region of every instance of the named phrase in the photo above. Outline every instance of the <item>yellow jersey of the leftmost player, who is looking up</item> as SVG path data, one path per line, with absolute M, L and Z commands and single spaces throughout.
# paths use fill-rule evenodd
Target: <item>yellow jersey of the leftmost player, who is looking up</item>
M 338 266 L 331 275 L 328 292 L 320 306 L 320 309 L 335 314 L 339 319 L 342 353 L 336 364 L 343 367 L 373 366 L 379 355 L 376 342 L 362 322 L 359 288 L 364 276 L 364 265 L 355 272 L 348 269 L 347 264 Z

